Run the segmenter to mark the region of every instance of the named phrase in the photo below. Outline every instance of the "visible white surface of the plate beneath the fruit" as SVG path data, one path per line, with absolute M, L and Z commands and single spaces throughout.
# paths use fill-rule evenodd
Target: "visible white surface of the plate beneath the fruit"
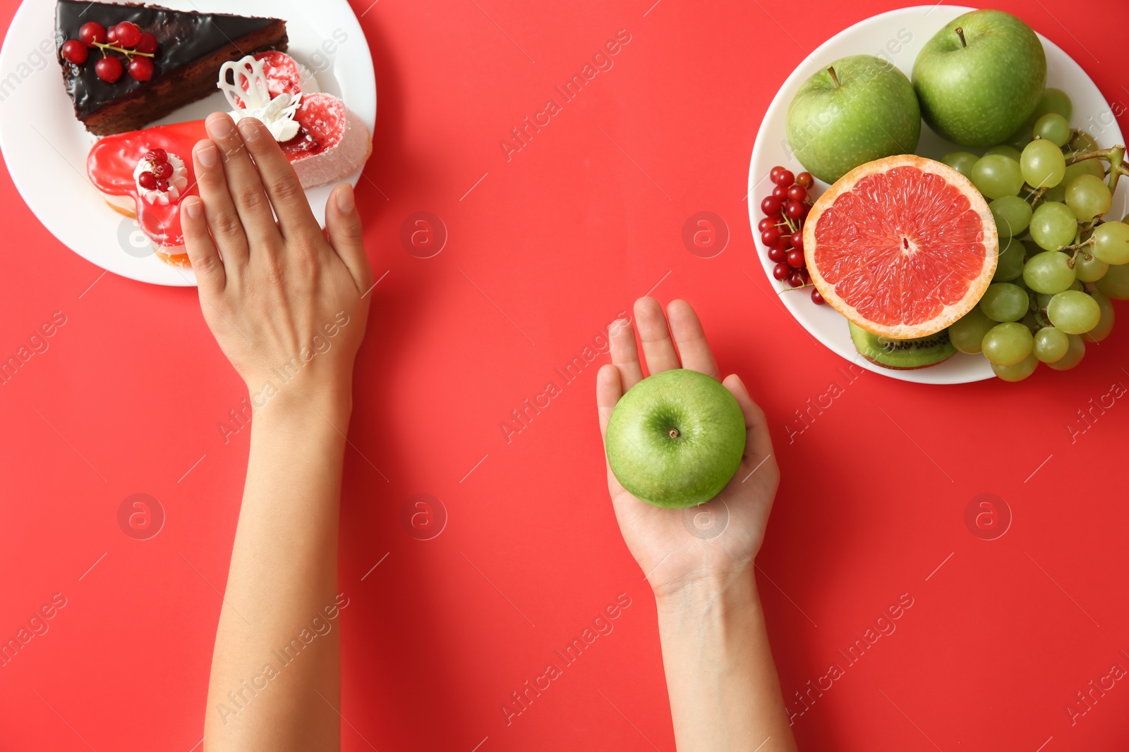
M 945 24 L 969 10 L 974 10 L 974 8 L 917 6 L 867 18 L 821 44 L 780 87 L 761 122 L 761 129 L 753 145 L 752 163 L 749 168 L 749 218 L 761 265 L 764 267 L 764 274 L 773 289 L 780 290 L 781 285 L 772 278 L 772 267 L 776 264 L 768 259 L 768 249 L 761 244 L 761 233 L 756 230 L 756 224 L 762 216 L 761 201 L 769 193 L 769 186 L 772 185 L 768 179 L 772 167 L 784 165 L 794 172 L 804 169 L 787 149 L 785 136 L 788 105 L 796 96 L 800 85 L 829 63 L 856 54 L 881 54 L 909 76 L 913 69 L 913 61 L 925 43 Z M 1070 124 L 1074 127 L 1087 129 L 1102 148 L 1112 147 L 1114 143 L 1124 143 L 1121 130 L 1118 127 L 1117 120 L 1113 117 L 1105 97 L 1089 80 L 1086 72 L 1053 42 L 1048 41 L 1042 35 L 1039 38 L 1043 43 L 1043 50 L 1047 51 L 1047 86 L 1062 89 L 1070 95 L 1074 103 L 1074 116 Z M 954 147 L 943 141 L 922 123 L 921 141 L 917 148 L 918 154 L 939 159 L 957 149 L 962 149 L 962 147 Z M 983 153 L 982 150 L 981 153 Z M 1121 180 L 1118 185 L 1113 206 L 1110 210 L 1110 214 L 1113 216 L 1120 218 L 1129 207 L 1129 194 L 1124 187 L 1127 183 L 1129 180 Z M 817 182 L 816 185 L 821 192 L 828 187 L 824 183 Z M 991 366 L 983 356 L 963 353 L 957 353 L 933 368 L 916 371 L 894 371 L 873 365 L 859 357 L 850 340 L 847 319 L 830 306 L 816 306 L 807 294 L 799 291 L 781 294 L 780 299 L 800 326 L 811 331 L 816 339 L 847 360 L 875 373 L 920 383 L 965 383 L 992 378 Z

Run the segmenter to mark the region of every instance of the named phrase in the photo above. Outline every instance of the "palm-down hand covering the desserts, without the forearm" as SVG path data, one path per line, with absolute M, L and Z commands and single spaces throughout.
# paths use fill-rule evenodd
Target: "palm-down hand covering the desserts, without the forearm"
M 330 195 L 323 233 L 262 123 L 218 113 L 207 125 L 192 152 L 200 198 L 181 205 L 204 320 L 256 410 L 275 396 L 348 408 L 373 285 L 352 187 Z

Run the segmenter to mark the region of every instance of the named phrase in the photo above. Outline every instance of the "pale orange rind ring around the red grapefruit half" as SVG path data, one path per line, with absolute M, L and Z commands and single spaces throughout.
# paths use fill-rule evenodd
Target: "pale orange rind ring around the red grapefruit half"
M 926 175 L 937 175 L 945 183 L 957 188 L 960 193 L 964 195 L 964 197 L 969 201 L 970 209 L 975 212 L 981 220 L 982 237 L 979 245 L 983 247 L 983 264 L 977 276 L 969 281 L 969 287 L 963 297 L 953 303 L 942 303 L 940 310 L 929 319 L 916 321 L 913 324 L 882 324 L 879 321 L 872 320 L 866 315 L 860 312 L 855 306 L 851 306 L 843 300 L 843 298 L 835 292 L 835 284 L 829 282 L 821 273 L 820 267 L 816 264 L 816 253 L 819 250 L 819 245 L 816 242 L 816 228 L 819 225 L 820 218 L 824 214 L 824 212 L 832 207 L 840 196 L 850 193 L 860 180 L 868 176 L 889 172 L 900 167 L 912 167 Z M 839 178 L 834 185 L 828 188 L 828 191 L 816 200 L 811 212 L 808 212 L 807 219 L 804 221 L 804 258 L 807 263 L 807 269 L 812 276 L 812 283 L 815 285 L 816 290 L 820 291 L 820 294 L 823 295 L 823 299 L 828 302 L 828 304 L 847 317 L 847 319 L 856 326 L 872 334 L 894 339 L 925 337 L 936 331 L 940 331 L 953 321 L 972 310 L 972 308 L 980 302 L 980 298 L 983 295 L 984 290 L 987 290 L 988 285 L 991 283 L 992 274 L 996 272 L 996 260 L 998 254 L 999 238 L 996 232 L 996 222 L 992 219 L 991 212 L 988 210 L 988 203 L 984 201 L 983 196 L 980 195 L 980 192 L 977 191 L 975 186 L 972 185 L 972 182 L 947 165 L 931 159 L 926 159 L 925 157 L 918 157 L 916 154 L 885 157 L 883 159 L 876 159 L 872 162 L 866 162 L 865 165 L 856 167 L 851 171 L 847 172 L 847 175 Z

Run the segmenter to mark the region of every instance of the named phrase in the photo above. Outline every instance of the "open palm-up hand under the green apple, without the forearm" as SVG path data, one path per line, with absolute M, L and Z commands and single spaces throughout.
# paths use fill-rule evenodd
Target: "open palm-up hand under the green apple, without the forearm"
M 717 379 L 717 362 L 694 310 L 682 300 L 673 301 L 666 310 L 664 316 L 651 298 L 634 304 L 647 371 L 685 368 Z M 601 368 L 596 378 L 602 435 L 620 397 L 644 378 L 631 325 L 613 324 L 610 339 L 612 363 Z M 764 539 L 780 479 L 772 440 L 764 413 L 749 397 L 741 379 L 732 374 L 721 383 L 741 405 L 747 435 L 741 468 L 717 498 L 686 510 L 660 508 L 629 494 L 607 468 L 607 489 L 620 531 L 658 596 L 699 584 L 723 589 L 736 577 L 751 576 L 749 569 Z

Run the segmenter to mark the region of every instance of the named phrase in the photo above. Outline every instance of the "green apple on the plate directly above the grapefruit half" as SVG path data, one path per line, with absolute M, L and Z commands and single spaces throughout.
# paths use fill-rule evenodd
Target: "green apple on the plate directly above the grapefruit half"
M 788 145 L 824 183 L 875 159 L 911 154 L 921 135 L 913 85 L 889 61 L 851 55 L 804 81 L 788 106 Z

